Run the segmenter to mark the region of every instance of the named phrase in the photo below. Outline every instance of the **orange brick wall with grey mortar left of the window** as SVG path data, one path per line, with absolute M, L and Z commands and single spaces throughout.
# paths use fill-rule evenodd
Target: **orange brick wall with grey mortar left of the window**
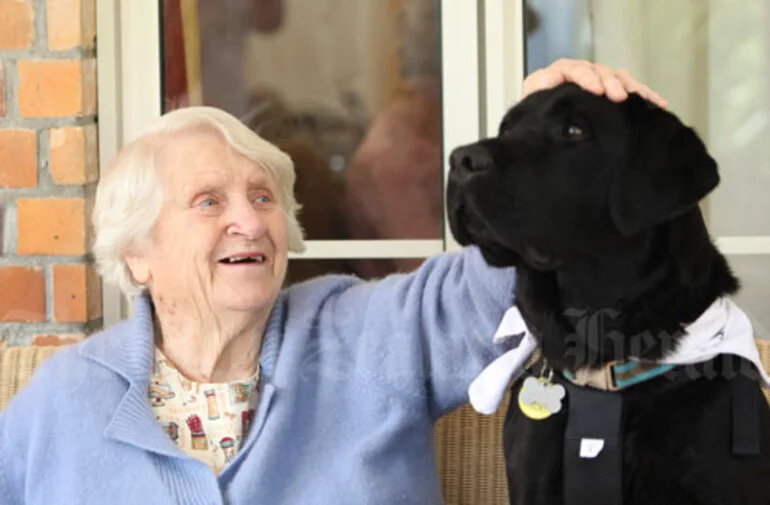
M 101 326 L 94 0 L 0 0 L 0 346 Z

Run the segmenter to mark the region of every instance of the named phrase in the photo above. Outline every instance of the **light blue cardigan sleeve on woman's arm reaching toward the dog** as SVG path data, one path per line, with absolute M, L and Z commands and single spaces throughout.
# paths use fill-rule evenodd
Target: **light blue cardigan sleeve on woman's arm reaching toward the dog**
M 393 395 L 422 395 L 436 419 L 467 402 L 472 380 L 508 350 L 493 336 L 514 287 L 512 267 L 490 267 L 468 247 L 345 289 L 334 304 L 335 333 L 353 342 L 364 373 Z

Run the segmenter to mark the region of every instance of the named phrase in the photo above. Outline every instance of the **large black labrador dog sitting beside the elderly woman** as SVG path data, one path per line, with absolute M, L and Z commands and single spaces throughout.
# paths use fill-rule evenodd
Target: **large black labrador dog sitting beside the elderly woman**
M 527 372 L 565 388 L 561 410 L 533 419 L 516 401 L 525 376 L 513 381 L 511 503 L 770 504 L 770 408 L 748 361 L 720 354 L 623 389 L 574 380 L 655 363 L 739 289 L 699 208 L 719 175 L 697 133 L 638 95 L 615 103 L 565 84 L 514 106 L 450 165 L 453 235 L 517 267 L 541 356 Z M 591 433 L 599 457 L 584 454 Z

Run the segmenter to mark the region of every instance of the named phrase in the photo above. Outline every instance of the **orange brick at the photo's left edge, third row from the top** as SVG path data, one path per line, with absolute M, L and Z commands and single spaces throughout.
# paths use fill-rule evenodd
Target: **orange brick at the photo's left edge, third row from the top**
M 0 130 L 0 188 L 37 186 L 37 133 Z

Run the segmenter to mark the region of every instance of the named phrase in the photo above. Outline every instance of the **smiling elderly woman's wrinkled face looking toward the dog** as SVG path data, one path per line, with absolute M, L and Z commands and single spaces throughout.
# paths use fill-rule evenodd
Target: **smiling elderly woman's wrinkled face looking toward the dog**
M 164 201 L 151 243 L 127 258 L 136 280 L 171 311 L 269 311 L 288 264 L 270 174 L 209 131 L 172 136 L 160 164 Z

